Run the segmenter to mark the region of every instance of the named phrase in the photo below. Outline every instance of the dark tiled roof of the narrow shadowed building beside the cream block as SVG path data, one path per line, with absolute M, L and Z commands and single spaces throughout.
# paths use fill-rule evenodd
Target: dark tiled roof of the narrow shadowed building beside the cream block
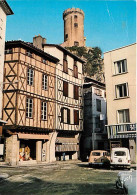
M 103 88 L 106 87 L 106 85 L 105 85 L 104 83 L 101 83 L 101 82 L 99 82 L 99 81 L 96 81 L 96 80 L 94 80 L 94 79 L 92 79 L 92 78 L 90 78 L 90 77 L 85 77 L 85 78 L 84 78 L 83 87 L 84 87 L 84 88 L 88 88 L 88 87 L 90 87 L 90 86 L 92 86 L 92 85 L 96 85 L 96 86 L 103 87 Z

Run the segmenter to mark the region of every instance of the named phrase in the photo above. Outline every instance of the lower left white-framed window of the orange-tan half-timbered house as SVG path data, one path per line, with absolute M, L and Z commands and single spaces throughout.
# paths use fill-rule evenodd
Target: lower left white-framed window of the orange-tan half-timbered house
M 30 103 L 30 100 L 32 100 L 31 103 Z M 31 109 L 31 111 L 30 111 L 30 109 Z M 32 97 L 27 97 L 26 98 L 26 118 L 33 118 L 33 110 L 34 110 L 33 98 Z

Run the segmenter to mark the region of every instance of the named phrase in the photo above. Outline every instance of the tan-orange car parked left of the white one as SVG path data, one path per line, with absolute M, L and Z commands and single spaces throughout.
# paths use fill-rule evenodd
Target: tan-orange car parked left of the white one
M 105 150 L 93 150 L 89 156 L 89 166 L 105 166 L 110 165 L 110 154 Z

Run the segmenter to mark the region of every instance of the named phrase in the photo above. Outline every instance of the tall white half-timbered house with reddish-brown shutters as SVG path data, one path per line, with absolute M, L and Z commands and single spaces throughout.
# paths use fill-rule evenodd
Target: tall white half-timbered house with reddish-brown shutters
M 84 61 L 60 45 L 44 44 L 44 51 L 60 61 L 56 66 L 56 159 L 77 159 L 83 131 Z

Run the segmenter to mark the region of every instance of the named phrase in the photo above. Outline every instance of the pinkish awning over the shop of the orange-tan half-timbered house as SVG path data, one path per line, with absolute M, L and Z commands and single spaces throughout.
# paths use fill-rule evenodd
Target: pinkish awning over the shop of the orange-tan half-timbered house
M 25 133 L 18 133 L 19 139 L 46 139 L 49 140 L 49 135 L 41 135 L 41 134 L 25 134 Z

